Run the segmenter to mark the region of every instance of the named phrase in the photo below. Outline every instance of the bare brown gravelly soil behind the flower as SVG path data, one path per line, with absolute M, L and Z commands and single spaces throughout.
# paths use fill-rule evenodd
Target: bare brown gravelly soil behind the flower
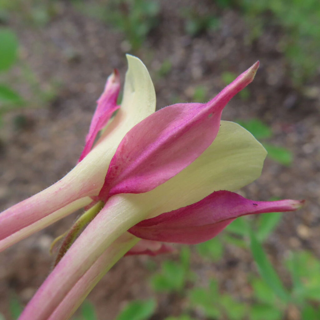
M 243 189 L 244 196 L 256 200 L 271 196 L 306 199 L 303 209 L 284 215 L 267 241 L 272 261 L 288 280 L 279 264 L 287 252 L 304 248 L 320 257 L 320 95 L 310 98 L 303 90 L 293 88 L 287 61 L 277 49 L 280 29 L 265 29 L 260 39 L 248 44 L 249 30 L 239 12 L 217 10 L 210 1 L 163 0 L 160 4 L 160 24 L 135 52 L 154 79 L 157 108 L 176 99 L 191 101 L 198 85 L 207 88 L 209 99 L 224 86 L 222 72 L 239 74 L 260 60 L 260 69 L 250 84 L 250 98 L 244 101 L 235 97 L 225 108 L 223 119 L 261 119 L 275 133 L 270 142 L 288 148 L 294 155 L 289 167 L 267 159 L 260 179 Z M 181 7 L 186 6 L 219 14 L 221 27 L 197 37 L 189 36 L 180 15 Z M 29 108 L 4 117 L 0 129 L 0 209 L 51 185 L 73 168 L 107 76 L 118 68 L 124 79 L 126 70 L 124 35 L 78 12 L 69 2 L 60 2 L 59 12 L 43 27 L 28 25 L 18 13 L 12 14 L 9 26 L 18 34 L 21 60 L 28 63 L 42 87 L 54 82 L 59 83 L 59 89 L 43 108 Z M 172 68 L 160 77 L 157 70 L 166 59 Z M 18 67 L 13 72 L 19 73 Z M 319 78 L 318 73 L 306 84 L 308 88 L 316 87 Z M 28 95 L 23 83 L 16 87 Z M 27 121 L 17 129 L 12 123 L 21 114 Z M 75 217 L 67 217 L 1 253 L 1 313 L 8 315 L 12 292 L 24 304 L 32 297 L 50 272 L 53 258 L 48 248 L 52 240 Z M 167 258 L 154 260 L 160 265 Z M 177 255 L 172 256 L 176 258 Z M 92 291 L 88 299 L 96 306 L 99 319 L 114 319 L 127 301 L 152 294 L 148 259 L 122 259 Z M 207 276 L 214 276 L 222 287 L 241 297 L 248 289 L 245 274 L 255 266 L 248 252 L 230 246 L 217 263 L 199 263 L 193 258 L 192 269 L 200 276 L 198 284 L 205 283 Z M 159 295 L 158 299 L 152 319 L 179 315 L 184 305 L 182 298 L 174 296 Z

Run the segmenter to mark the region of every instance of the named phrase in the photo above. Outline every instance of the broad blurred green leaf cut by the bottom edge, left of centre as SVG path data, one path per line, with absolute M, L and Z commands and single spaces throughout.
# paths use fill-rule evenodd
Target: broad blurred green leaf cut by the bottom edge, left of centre
M 153 315 L 155 308 L 156 302 L 153 299 L 135 300 L 127 304 L 116 320 L 146 320 Z

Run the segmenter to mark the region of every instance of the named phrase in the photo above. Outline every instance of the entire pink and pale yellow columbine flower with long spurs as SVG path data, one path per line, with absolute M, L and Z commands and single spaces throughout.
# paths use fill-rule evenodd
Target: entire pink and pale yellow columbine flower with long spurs
M 128 62 L 121 108 L 110 120 L 120 86 L 114 72 L 76 167 L 0 215 L 0 248 L 5 248 L 90 204 L 67 233 L 56 267 L 21 320 L 68 319 L 126 252 L 170 252 L 164 242 L 199 243 L 236 217 L 291 211 L 302 203 L 252 201 L 232 192 L 259 177 L 266 151 L 249 132 L 220 116 L 253 80 L 259 62 L 208 103 L 176 104 L 155 113 L 147 69 L 132 56 Z

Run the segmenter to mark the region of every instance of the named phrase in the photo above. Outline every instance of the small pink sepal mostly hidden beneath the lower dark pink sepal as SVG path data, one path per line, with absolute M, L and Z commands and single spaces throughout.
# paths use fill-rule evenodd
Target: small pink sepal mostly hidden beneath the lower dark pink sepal
M 156 256 L 163 253 L 172 253 L 175 249 L 170 245 L 151 240 L 140 240 L 133 248 L 131 248 L 125 256 L 146 254 L 149 256 Z

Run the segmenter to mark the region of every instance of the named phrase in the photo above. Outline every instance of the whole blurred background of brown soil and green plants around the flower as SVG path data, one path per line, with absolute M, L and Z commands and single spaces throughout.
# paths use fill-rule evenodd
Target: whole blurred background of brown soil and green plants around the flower
M 157 108 L 208 101 L 259 59 L 223 114 L 268 151 L 240 193 L 307 200 L 176 254 L 122 259 L 75 320 L 320 319 L 319 21 L 318 0 L 0 0 L 0 209 L 74 166 L 107 76 L 118 68 L 124 79 L 126 52 L 148 67 Z M 19 316 L 75 217 L 1 253 L 1 320 Z

